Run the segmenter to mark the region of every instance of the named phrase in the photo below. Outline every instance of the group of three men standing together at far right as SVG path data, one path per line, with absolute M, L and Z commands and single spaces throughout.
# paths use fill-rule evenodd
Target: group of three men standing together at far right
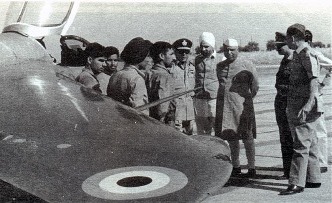
M 284 174 L 289 186 L 279 195 L 304 188 L 319 188 L 328 170 L 327 131 L 322 88 L 331 78 L 332 60 L 310 47 L 312 33 L 301 24 L 276 33 L 276 48 L 284 55 L 277 72 L 275 110 L 279 127 Z M 328 73 L 320 74 L 321 71 Z

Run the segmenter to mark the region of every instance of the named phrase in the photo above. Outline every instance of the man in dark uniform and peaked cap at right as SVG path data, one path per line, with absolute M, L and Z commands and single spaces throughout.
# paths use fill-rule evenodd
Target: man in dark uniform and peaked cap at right
M 290 163 L 293 156 L 293 139 L 286 116 L 289 76 L 291 73 L 289 62 L 292 59 L 293 50 L 287 46 L 286 34 L 284 33 L 276 32 L 276 41 L 274 43 L 278 54 L 283 55 L 276 75 L 275 87 L 277 88 L 277 95 L 275 99 L 275 112 L 279 128 L 283 165 L 283 175 L 278 176 L 277 179 L 284 180 L 289 178 Z

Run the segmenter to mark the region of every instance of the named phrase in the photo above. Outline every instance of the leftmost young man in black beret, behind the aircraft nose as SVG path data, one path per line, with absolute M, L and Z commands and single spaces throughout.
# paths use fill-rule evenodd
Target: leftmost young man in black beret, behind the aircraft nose
M 76 77 L 76 81 L 85 86 L 102 92 L 97 76 L 106 67 L 106 57 L 104 56 L 105 47 L 97 42 L 89 43 L 84 53 L 86 64 L 81 74 Z

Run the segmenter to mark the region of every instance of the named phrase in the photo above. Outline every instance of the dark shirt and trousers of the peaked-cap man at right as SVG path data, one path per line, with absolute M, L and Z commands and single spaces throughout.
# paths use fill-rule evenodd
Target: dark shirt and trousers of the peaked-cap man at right
M 277 88 L 277 95 L 275 99 L 276 120 L 279 128 L 283 174 L 287 179 L 289 178 L 290 163 L 293 156 L 293 138 L 290 133 L 286 115 L 287 97 L 289 90 L 289 76 L 291 73 L 289 64 L 290 61 L 291 56 L 284 57 L 282 59 L 276 75 L 275 85 L 275 87 Z

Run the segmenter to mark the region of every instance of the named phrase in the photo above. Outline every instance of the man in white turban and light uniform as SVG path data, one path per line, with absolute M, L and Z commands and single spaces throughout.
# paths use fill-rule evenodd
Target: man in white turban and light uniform
M 218 91 L 218 78 L 216 75 L 217 63 L 221 62 L 222 55 L 215 50 L 215 36 L 204 32 L 200 38 L 200 55 L 195 58 L 195 91 L 194 106 L 198 134 L 210 134 L 215 128 L 216 101 Z

